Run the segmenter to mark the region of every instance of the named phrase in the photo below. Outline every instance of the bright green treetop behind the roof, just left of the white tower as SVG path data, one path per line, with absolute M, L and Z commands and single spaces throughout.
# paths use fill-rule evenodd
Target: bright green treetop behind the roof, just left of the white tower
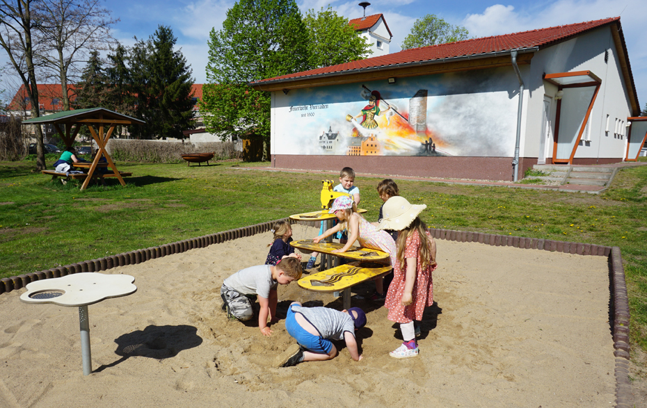
M 373 53 L 366 38 L 358 35 L 330 6 L 316 14 L 312 9 L 307 10 L 303 23 L 308 33 L 310 69 L 360 60 Z

